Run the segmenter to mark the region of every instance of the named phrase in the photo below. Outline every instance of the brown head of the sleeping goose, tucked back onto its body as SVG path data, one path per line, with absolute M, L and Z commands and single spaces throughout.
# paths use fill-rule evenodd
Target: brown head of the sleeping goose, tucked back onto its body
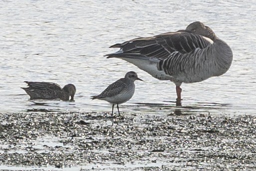
M 189 24 L 187 26 L 186 30 L 191 31 L 195 34 L 199 34 L 199 35 L 208 37 L 212 40 L 217 38 L 215 33 L 213 32 L 213 30 L 200 21 L 192 22 L 191 24 Z

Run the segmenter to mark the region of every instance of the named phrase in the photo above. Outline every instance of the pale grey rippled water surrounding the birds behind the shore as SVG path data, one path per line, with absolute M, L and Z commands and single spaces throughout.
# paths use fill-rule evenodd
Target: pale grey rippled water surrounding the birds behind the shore
M 120 110 L 172 113 L 174 83 L 103 55 L 118 50 L 112 44 L 202 21 L 231 46 L 234 60 L 223 76 L 183 84 L 179 109 L 256 114 L 255 8 L 251 0 L 1 0 L 0 112 L 110 112 L 110 104 L 89 97 L 135 71 L 144 82 L 135 82 L 133 98 Z M 23 81 L 73 83 L 75 102 L 29 101 Z

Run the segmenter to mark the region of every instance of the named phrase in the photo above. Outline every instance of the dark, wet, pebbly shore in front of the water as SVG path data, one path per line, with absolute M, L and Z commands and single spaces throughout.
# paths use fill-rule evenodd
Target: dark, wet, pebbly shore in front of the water
M 256 116 L 2 113 L 0 170 L 256 171 Z

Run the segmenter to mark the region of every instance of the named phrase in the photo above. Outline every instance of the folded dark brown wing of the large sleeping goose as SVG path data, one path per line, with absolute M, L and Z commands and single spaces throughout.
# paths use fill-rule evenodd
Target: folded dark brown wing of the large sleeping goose
M 123 43 L 117 43 L 110 47 L 119 47 L 120 50 L 108 54 L 111 57 L 127 57 L 149 59 L 166 59 L 173 52 L 189 53 L 200 48 L 204 49 L 213 41 L 210 38 L 190 31 L 179 30 L 177 32 L 167 32 L 153 37 L 135 38 Z

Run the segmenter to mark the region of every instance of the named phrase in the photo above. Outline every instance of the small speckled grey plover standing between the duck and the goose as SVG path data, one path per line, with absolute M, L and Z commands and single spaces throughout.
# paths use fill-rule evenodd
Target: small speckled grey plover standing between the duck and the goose
M 111 116 L 113 116 L 114 106 L 116 104 L 118 114 L 119 104 L 125 103 L 130 100 L 135 91 L 135 80 L 141 80 L 138 78 L 136 72 L 130 71 L 125 74 L 124 78 L 117 80 L 116 82 L 110 84 L 101 94 L 97 96 L 91 96 L 91 99 L 105 100 L 112 104 Z

